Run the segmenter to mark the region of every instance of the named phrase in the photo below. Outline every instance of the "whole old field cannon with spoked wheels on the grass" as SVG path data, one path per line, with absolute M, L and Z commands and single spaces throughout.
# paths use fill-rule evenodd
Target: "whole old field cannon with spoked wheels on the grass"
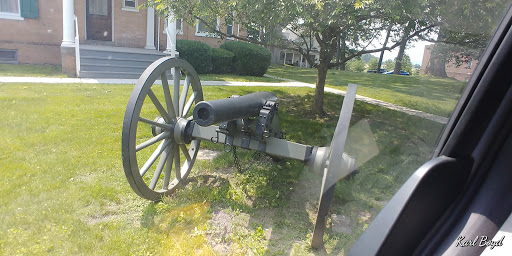
M 204 101 L 194 68 L 185 60 L 163 57 L 144 71 L 128 101 L 122 130 L 126 178 L 145 199 L 172 195 L 187 183 L 201 141 L 223 143 L 225 151 L 240 147 L 303 161 L 323 176 L 311 243 L 322 247 L 335 184 L 356 170 L 355 159 L 344 153 L 356 89 L 349 84 L 331 145 L 303 145 L 285 139 L 275 94 Z

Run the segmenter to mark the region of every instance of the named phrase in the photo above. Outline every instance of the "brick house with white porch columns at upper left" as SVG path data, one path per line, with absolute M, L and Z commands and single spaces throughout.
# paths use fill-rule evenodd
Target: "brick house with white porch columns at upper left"
M 93 55 L 110 56 L 111 59 L 135 58 L 135 55 L 127 57 L 128 53 L 156 58 L 166 53 L 173 54 L 176 38 L 202 41 L 212 47 L 222 43 L 220 38 L 207 33 L 204 24 L 188 26 L 179 19 L 158 17 L 153 8 L 137 8 L 143 2 L 1 0 L 0 62 L 62 65 L 64 73 L 75 75 L 77 27 L 78 47 L 83 63 L 79 66 L 84 69 L 87 68 L 88 60 L 82 60 L 87 58 L 82 55 L 92 51 L 96 51 Z M 226 25 L 223 19 L 218 19 L 218 26 L 234 35 L 246 34 L 238 24 Z M 169 37 L 167 31 L 170 32 Z M 111 65 L 106 63 L 104 67 Z M 79 72 L 77 76 L 85 74 L 85 71 L 84 74 Z

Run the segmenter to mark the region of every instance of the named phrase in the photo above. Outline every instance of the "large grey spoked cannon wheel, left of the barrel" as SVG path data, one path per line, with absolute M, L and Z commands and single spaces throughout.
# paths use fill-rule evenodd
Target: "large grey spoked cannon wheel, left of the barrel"
M 200 144 L 191 139 L 190 109 L 202 100 L 199 77 L 185 60 L 163 57 L 142 73 L 122 132 L 124 172 L 139 196 L 159 201 L 185 184 Z

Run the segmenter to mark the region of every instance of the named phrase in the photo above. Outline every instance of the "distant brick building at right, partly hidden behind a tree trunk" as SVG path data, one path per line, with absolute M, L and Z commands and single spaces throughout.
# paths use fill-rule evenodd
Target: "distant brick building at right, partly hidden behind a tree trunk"
M 423 52 L 423 60 L 421 62 L 420 74 L 426 74 L 427 67 L 430 63 L 430 56 L 432 55 L 432 49 L 434 45 L 426 45 L 425 50 Z M 478 64 L 477 60 L 472 60 L 469 63 L 463 63 L 460 66 L 457 66 L 454 62 L 446 63 L 446 75 L 448 77 L 455 78 L 459 81 L 467 81 L 473 74 L 476 65 Z

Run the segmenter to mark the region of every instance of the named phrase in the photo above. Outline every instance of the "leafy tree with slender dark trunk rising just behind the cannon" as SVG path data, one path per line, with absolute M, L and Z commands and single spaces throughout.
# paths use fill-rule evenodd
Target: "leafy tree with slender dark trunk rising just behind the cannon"
M 408 0 L 413 1 L 413 0 Z M 417 0 L 420 1 L 420 0 Z M 417 23 L 406 36 L 386 47 L 369 49 L 376 35 L 388 24 L 395 10 L 386 0 L 155 0 L 156 10 L 172 11 L 188 23 L 197 20 L 206 24 L 212 32 L 227 37 L 220 31 L 217 17 L 230 17 L 247 29 L 259 31 L 259 36 L 238 37 L 266 46 L 277 46 L 301 53 L 309 65 L 317 68 L 317 81 L 313 111 L 323 114 L 325 79 L 329 68 L 338 66 L 365 53 L 391 50 L 402 40 L 409 40 L 434 27 L 433 24 Z M 236 13 L 236 15 L 233 15 Z M 416 23 L 415 23 L 416 24 Z M 287 29 L 296 40 L 283 38 Z M 333 62 L 338 48 L 338 36 L 345 37 L 347 48 L 353 53 L 342 54 L 339 62 Z M 231 36 L 231 35 L 229 35 Z M 319 63 L 312 59 L 313 42 L 319 45 Z

